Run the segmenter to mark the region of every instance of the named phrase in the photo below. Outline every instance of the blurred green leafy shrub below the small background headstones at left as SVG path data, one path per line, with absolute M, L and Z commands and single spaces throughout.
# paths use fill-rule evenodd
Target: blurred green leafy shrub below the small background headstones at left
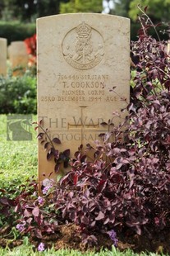
M 26 73 L 21 77 L 0 77 L 0 113 L 35 114 L 36 78 Z

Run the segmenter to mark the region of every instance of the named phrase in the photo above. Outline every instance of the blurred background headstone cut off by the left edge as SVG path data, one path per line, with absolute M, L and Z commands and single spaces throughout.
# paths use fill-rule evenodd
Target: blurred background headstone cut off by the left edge
M 7 39 L 0 38 L 0 75 L 7 74 Z

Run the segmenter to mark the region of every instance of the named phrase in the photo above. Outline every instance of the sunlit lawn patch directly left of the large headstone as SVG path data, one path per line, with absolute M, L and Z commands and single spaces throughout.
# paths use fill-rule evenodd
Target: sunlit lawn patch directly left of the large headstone
M 36 116 L 33 116 L 36 120 Z M 16 187 L 37 173 L 37 140 L 7 140 L 7 116 L 0 115 L 0 187 Z

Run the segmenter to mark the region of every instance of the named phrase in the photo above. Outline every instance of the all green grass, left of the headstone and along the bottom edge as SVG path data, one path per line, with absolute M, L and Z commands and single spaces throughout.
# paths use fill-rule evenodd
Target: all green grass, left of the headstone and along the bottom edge
M 36 116 L 33 116 L 33 121 L 36 120 Z M 0 188 L 4 188 L 7 192 L 11 192 L 12 188 L 16 188 L 25 183 L 27 178 L 31 178 L 33 175 L 36 177 L 37 173 L 37 139 L 34 126 L 31 129 L 33 140 L 30 141 L 13 141 L 7 140 L 7 116 L 0 115 Z M 15 197 L 15 194 L 12 195 Z M 11 196 L 11 197 L 12 197 Z M 0 194 L 1 197 L 1 194 Z M 44 252 L 37 252 L 37 250 L 28 242 L 28 238 L 25 237 L 23 245 L 14 249 L 2 249 L 0 248 L 0 256 L 135 256 L 131 250 L 123 252 L 118 251 L 113 247 L 111 251 L 104 249 L 99 253 L 86 252 L 80 253 L 79 251 L 60 249 L 55 251 L 54 249 L 46 249 Z M 145 254 L 154 256 L 158 254 Z M 162 254 L 163 255 L 163 254 Z

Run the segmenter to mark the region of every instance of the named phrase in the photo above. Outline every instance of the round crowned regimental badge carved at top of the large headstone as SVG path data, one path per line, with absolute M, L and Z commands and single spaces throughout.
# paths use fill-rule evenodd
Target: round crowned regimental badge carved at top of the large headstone
M 103 37 L 83 21 L 64 37 L 62 54 L 73 68 L 92 69 L 103 59 Z

